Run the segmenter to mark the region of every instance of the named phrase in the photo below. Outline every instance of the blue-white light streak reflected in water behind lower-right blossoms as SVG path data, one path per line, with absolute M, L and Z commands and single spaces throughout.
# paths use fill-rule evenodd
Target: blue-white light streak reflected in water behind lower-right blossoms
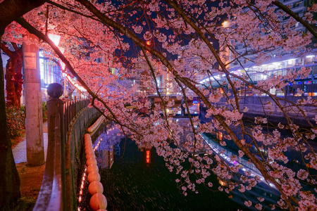
M 182 120 L 175 120 L 180 123 L 180 125 L 183 126 L 185 129 L 186 126 L 188 128 L 189 120 L 188 119 L 182 119 Z M 184 135 L 181 137 L 181 143 L 185 142 L 186 136 L 188 134 L 192 134 L 191 132 L 187 131 Z M 193 136 L 193 134 L 192 134 Z M 239 203 L 240 205 L 244 206 L 245 200 L 251 200 L 252 204 L 259 203 L 259 200 L 263 200 L 261 204 L 263 207 L 275 204 L 279 200 L 279 196 L 277 195 L 278 191 L 276 190 L 274 184 L 271 182 L 267 182 L 264 177 L 262 176 L 261 172 L 254 166 L 253 163 L 249 162 L 249 159 L 247 157 L 240 158 L 238 155 L 238 148 L 237 146 L 233 145 L 233 141 L 228 141 L 224 139 L 223 132 L 214 132 L 213 134 L 201 134 L 201 138 L 204 139 L 204 150 L 205 152 L 200 153 L 206 153 L 206 151 L 213 151 L 216 155 L 218 155 L 222 160 L 228 163 L 228 165 L 240 165 L 240 170 L 236 174 L 232 175 L 232 179 L 230 181 L 223 181 L 218 178 L 218 183 L 220 186 L 223 187 L 229 187 L 229 182 L 240 182 L 240 176 L 248 174 L 248 177 L 258 177 L 261 182 L 256 184 L 253 188 L 251 188 L 251 191 L 245 191 L 244 193 L 241 193 L 237 188 L 234 188 L 232 191 L 230 191 L 230 199 Z M 217 140 L 217 141 L 215 141 Z M 220 141 L 225 141 L 226 146 L 221 146 Z M 249 142 L 246 145 L 248 145 Z M 235 156 L 235 160 L 232 160 L 231 158 Z M 254 206 L 248 207 L 251 210 L 256 210 Z M 244 208 L 245 210 L 246 208 Z M 269 210 L 271 210 L 271 207 L 268 207 Z M 275 210 L 279 210 L 278 207 L 275 208 Z

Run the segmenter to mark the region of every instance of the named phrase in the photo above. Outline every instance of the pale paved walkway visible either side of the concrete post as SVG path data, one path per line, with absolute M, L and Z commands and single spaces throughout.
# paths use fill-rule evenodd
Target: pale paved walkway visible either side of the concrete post
M 47 121 L 43 123 L 43 136 L 44 136 L 44 158 L 46 160 L 46 153 L 47 153 L 47 141 L 48 141 L 48 135 L 47 135 Z M 17 146 L 15 146 L 13 149 L 13 158 L 15 160 L 15 163 L 20 162 L 27 162 L 27 155 L 26 155 L 26 140 L 24 138 L 23 141 L 20 141 Z

